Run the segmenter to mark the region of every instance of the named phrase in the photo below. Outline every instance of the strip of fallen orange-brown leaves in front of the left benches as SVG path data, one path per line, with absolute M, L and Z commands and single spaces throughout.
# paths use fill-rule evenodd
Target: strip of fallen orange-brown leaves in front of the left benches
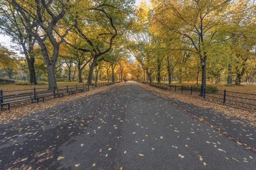
M 85 91 L 82 93 L 77 93 L 76 95 L 64 95 L 62 98 L 46 98 L 43 102 L 39 102 L 39 105 L 36 103 L 17 103 L 11 105 L 11 111 L 3 110 L 0 112 L 0 124 L 7 124 L 12 122 L 13 120 L 17 120 L 22 118 L 23 116 L 29 116 L 32 113 L 36 113 L 38 111 L 44 111 L 47 108 L 52 108 L 56 105 L 60 105 L 66 102 L 73 101 L 75 99 L 80 99 L 85 96 L 89 96 L 91 94 L 95 94 L 100 91 L 105 91 L 108 88 L 115 87 L 119 84 L 104 86 L 100 88 L 90 88 L 90 91 Z

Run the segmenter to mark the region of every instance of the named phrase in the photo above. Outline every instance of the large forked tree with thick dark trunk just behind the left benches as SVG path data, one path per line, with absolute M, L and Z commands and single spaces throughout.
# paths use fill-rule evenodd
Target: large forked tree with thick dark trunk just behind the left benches
M 26 32 L 32 35 L 40 45 L 44 61 L 47 65 L 49 88 L 57 88 L 55 64 L 58 59 L 59 47 L 64 42 L 63 38 L 75 25 L 70 24 L 68 28 L 58 28 L 57 23 L 60 22 L 67 11 L 70 11 L 70 0 L 50 0 L 48 2 L 45 0 L 7 0 L 7 2 L 19 12 L 23 18 Z M 60 35 L 61 32 L 63 33 L 62 35 Z M 47 48 L 49 45 L 47 44 L 48 41 L 52 51 Z

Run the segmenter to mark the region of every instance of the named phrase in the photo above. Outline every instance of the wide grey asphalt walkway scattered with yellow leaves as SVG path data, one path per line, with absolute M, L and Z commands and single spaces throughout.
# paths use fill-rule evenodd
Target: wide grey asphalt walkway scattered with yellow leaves
M 136 82 L 0 125 L 0 160 L 1 170 L 256 169 L 251 150 Z

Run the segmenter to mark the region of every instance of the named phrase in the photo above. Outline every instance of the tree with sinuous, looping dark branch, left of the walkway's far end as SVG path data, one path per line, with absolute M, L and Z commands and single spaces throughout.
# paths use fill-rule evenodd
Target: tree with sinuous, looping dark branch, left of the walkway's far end
M 114 38 L 122 35 L 122 32 L 129 26 L 128 16 L 132 3 L 133 0 L 111 2 L 105 0 L 90 3 L 86 10 L 84 6 L 81 6 L 80 11 L 83 12 L 76 17 L 76 33 L 88 46 L 78 50 L 90 52 L 93 58 L 88 73 L 88 83 L 92 81 L 93 70 L 97 62 L 105 60 L 104 54 L 111 50 Z

